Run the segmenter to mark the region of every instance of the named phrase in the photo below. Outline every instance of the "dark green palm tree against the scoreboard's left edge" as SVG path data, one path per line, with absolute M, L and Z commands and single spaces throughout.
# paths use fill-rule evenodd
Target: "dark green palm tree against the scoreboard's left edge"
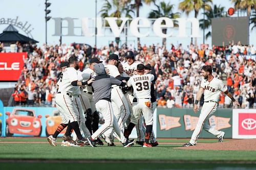
M 206 16 L 206 19 L 200 19 L 199 20 L 199 27 L 201 29 L 208 29 L 211 27 L 211 19 L 212 18 L 217 18 L 217 17 L 223 17 L 223 13 L 225 12 L 225 7 L 221 7 L 221 5 L 219 5 L 217 7 L 217 5 L 214 5 L 214 9 L 210 8 L 209 11 L 206 11 L 205 13 L 203 13 L 203 15 Z M 211 36 L 211 31 L 209 31 L 206 35 L 205 38 L 207 39 L 208 37 Z

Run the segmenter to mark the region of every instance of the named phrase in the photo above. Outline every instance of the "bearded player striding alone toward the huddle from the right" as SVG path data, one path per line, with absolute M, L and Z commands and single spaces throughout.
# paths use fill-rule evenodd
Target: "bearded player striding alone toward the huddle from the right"
M 183 144 L 183 147 L 196 145 L 198 136 L 202 129 L 217 136 L 219 142 L 223 141 L 225 132 L 218 131 L 208 124 L 209 117 L 214 114 L 217 109 L 222 91 L 229 96 L 234 105 L 240 106 L 240 104 L 233 98 L 233 95 L 228 92 L 227 86 L 220 79 L 212 76 L 212 67 L 210 65 L 204 65 L 202 67 L 202 76 L 204 77 L 204 80 L 201 82 L 200 89 L 197 93 L 194 112 L 198 112 L 198 102 L 201 99 L 202 93 L 204 93 L 204 104 L 198 119 L 196 129 L 194 130 L 190 141 Z

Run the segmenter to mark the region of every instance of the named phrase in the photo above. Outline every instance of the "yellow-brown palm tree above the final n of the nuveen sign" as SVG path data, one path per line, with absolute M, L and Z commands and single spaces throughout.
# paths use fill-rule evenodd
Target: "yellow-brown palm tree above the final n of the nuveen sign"
M 179 4 L 179 9 L 185 12 L 187 15 L 191 11 L 194 11 L 195 18 L 197 18 L 200 9 L 205 8 L 206 11 L 210 10 L 210 3 L 212 3 L 212 0 L 183 0 Z M 193 43 L 193 38 L 191 38 L 191 43 Z

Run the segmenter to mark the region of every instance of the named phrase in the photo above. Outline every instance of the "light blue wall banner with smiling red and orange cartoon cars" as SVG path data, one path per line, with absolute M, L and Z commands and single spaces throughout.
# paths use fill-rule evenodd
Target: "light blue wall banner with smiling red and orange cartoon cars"
M 49 136 L 60 123 L 61 117 L 54 107 L 4 108 L 4 136 Z

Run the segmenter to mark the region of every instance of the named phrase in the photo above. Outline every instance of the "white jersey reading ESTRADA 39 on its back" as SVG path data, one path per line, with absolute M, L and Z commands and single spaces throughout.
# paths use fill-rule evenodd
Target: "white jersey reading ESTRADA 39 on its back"
M 133 86 L 134 97 L 137 99 L 151 98 L 151 82 L 154 75 L 134 75 L 127 82 L 127 86 Z

